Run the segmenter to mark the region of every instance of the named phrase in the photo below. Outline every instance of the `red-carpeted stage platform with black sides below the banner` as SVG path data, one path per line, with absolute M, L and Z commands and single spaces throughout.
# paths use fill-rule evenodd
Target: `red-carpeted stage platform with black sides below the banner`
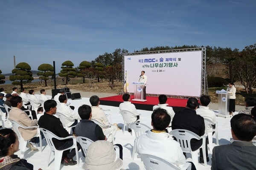
M 134 99 L 134 96 L 131 96 L 131 100 L 132 99 Z M 168 106 L 171 106 L 173 111 L 176 113 L 178 111 L 183 111 L 186 107 L 187 100 L 188 99 L 168 98 L 166 103 L 168 103 Z M 119 107 L 122 102 L 122 95 L 100 98 L 100 105 Z M 153 106 L 158 104 L 158 97 L 147 96 L 146 102 L 131 101 L 131 103 L 135 105 L 136 109 L 152 111 Z

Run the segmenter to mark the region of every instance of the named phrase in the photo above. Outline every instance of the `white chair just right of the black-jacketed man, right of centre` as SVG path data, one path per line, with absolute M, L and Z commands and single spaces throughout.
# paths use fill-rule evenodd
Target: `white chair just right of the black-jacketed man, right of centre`
M 212 128 L 212 130 L 208 130 L 207 127 L 208 125 L 214 125 L 215 124 L 215 129 Z M 216 144 L 219 145 L 218 143 L 218 122 L 212 122 L 212 120 L 204 118 L 204 125 L 205 129 L 207 131 L 207 136 L 208 136 L 208 141 L 209 141 L 209 150 L 212 151 L 212 132 L 215 131 L 215 138 L 216 138 Z

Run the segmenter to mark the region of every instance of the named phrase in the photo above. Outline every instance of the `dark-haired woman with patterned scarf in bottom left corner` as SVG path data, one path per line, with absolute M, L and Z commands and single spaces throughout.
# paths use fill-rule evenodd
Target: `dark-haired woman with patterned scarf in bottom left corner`
M 1 170 L 33 170 L 34 166 L 26 159 L 20 159 L 15 152 L 19 150 L 17 134 L 12 129 L 0 130 L 0 169 Z M 39 168 L 38 170 L 42 170 Z

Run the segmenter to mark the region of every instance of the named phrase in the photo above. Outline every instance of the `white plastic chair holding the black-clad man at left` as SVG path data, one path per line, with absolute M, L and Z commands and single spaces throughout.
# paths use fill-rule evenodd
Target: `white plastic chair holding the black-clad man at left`
M 75 148 L 76 150 L 76 161 L 77 161 L 77 165 L 79 166 L 79 157 L 78 157 L 78 149 L 76 146 L 76 137 L 75 136 L 67 136 L 65 138 L 60 138 L 58 136 L 56 136 L 55 134 L 53 134 L 52 132 L 50 132 L 49 130 L 46 130 L 44 128 L 40 128 L 40 130 L 44 133 L 44 137 L 45 140 L 47 142 L 47 144 L 49 145 L 49 150 L 47 153 L 47 167 L 49 167 L 49 160 L 50 160 L 50 156 L 52 151 L 54 151 L 54 162 L 55 162 L 55 170 L 60 170 L 60 166 L 61 166 L 61 158 L 62 158 L 62 153 L 64 150 L 70 150 Z M 68 147 L 64 150 L 57 150 L 52 142 L 52 138 L 58 139 L 58 140 L 65 140 L 65 139 L 73 139 L 73 145 L 71 147 Z

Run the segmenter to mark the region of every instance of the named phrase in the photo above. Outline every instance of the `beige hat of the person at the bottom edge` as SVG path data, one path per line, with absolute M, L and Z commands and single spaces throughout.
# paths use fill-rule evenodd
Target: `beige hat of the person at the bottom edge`
M 85 170 L 119 170 L 122 167 L 123 161 L 116 155 L 113 144 L 102 140 L 90 144 L 82 166 Z

